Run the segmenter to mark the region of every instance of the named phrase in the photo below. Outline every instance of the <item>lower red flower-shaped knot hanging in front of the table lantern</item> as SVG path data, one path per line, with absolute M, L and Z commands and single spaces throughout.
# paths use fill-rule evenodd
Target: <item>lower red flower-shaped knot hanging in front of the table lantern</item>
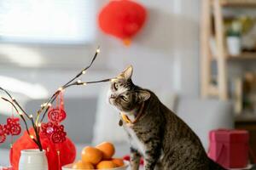
M 64 126 L 53 122 L 42 124 L 41 132 L 55 144 L 64 142 L 67 136 L 67 133 L 64 132 Z

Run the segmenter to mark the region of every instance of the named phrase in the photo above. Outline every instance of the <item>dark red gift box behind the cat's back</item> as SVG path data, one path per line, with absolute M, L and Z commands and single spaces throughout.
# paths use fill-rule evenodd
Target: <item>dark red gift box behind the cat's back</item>
M 226 168 L 242 168 L 248 164 L 249 134 L 245 130 L 212 130 L 209 133 L 208 156 Z

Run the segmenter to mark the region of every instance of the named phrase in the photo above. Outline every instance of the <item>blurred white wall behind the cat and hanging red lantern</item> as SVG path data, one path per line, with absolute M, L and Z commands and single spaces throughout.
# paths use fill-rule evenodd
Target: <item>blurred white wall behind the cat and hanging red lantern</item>
M 134 65 L 135 82 L 145 88 L 199 94 L 200 0 L 137 0 L 148 8 L 148 21 L 131 47 L 97 31 L 96 42 L 84 46 L 0 44 L 0 68 L 43 67 L 79 70 L 98 44 L 102 54 L 94 69 L 119 72 Z M 98 7 L 108 0 L 97 0 Z M 96 9 L 99 10 L 99 9 Z M 33 71 L 33 70 L 32 70 Z M 47 71 L 49 74 L 49 71 Z M 14 71 L 11 71 L 14 72 Z M 38 72 L 38 71 L 37 71 Z M 24 73 L 26 74 L 26 73 Z M 41 71 L 44 77 L 44 70 Z M 63 73 L 63 77 L 66 74 Z M 42 80 L 44 81 L 44 80 Z

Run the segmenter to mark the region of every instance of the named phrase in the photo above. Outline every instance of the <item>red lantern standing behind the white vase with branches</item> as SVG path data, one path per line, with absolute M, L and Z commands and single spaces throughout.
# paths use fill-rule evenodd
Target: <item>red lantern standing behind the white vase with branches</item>
M 30 133 L 33 134 L 32 128 L 30 129 Z M 60 150 L 61 153 L 61 166 L 73 163 L 73 161 L 75 160 L 76 149 L 70 139 L 67 138 L 63 143 L 54 144 L 47 138 L 46 135 L 42 133 L 40 134 L 40 139 L 43 145 L 43 149 L 46 150 L 49 170 L 58 169 L 58 156 L 56 152 L 56 147 L 58 147 L 58 150 Z M 32 141 L 32 139 L 28 136 L 26 132 L 23 134 L 23 136 L 20 137 L 20 139 L 17 139 L 15 144 L 13 145 L 13 153 L 10 157 L 14 169 L 18 170 L 21 150 L 36 148 L 38 148 L 37 144 Z

